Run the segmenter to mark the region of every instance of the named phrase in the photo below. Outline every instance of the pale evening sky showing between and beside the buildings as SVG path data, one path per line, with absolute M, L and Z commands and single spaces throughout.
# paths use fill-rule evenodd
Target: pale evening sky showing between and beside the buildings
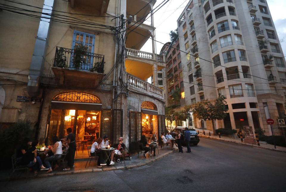
M 157 0 L 154 8 L 163 0 Z M 235 0 L 238 1 L 238 0 Z M 184 10 L 189 0 L 170 0 L 154 13 L 154 26 L 156 27 L 156 40 L 162 43 L 170 41 L 169 32 L 177 29 L 177 19 Z M 286 0 L 268 0 L 268 7 L 278 38 L 282 40 L 281 46 L 284 55 L 286 55 Z M 147 19 L 151 20 L 151 18 Z M 163 44 L 156 42 L 157 54 L 160 53 Z M 142 51 L 152 52 L 152 41 L 149 39 L 141 49 Z

